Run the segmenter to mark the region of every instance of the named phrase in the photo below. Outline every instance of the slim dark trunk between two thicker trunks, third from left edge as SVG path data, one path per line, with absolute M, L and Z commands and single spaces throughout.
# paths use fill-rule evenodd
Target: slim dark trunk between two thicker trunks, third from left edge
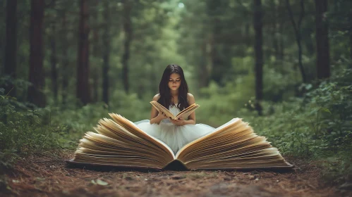
M 57 84 L 57 58 L 56 58 L 56 40 L 55 40 L 56 28 L 55 23 L 52 25 L 52 32 L 50 37 L 50 48 L 51 48 L 51 86 L 54 93 L 54 101 L 57 103 L 57 94 L 58 94 L 58 84 Z

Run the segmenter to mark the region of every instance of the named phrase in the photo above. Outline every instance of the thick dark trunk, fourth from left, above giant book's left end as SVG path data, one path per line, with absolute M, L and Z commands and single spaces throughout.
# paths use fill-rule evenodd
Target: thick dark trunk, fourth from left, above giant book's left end
M 77 98 L 83 105 L 90 102 L 89 88 L 89 27 L 87 0 L 80 0 L 80 23 L 78 34 Z

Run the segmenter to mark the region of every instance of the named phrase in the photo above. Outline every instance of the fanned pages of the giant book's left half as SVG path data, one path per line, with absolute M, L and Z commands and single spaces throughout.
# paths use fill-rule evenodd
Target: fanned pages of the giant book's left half
M 95 132 L 86 132 L 68 163 L 162 169 L 174 160 L 171 148 L 143 132 L 121 115 L 99 120 Z

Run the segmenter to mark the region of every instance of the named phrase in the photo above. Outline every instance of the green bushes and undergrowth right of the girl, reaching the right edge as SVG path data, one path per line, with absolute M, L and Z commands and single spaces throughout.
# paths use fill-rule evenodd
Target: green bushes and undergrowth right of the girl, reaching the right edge
M 265 82 L 271 86 L 267 87 L 267 94 L 293 85 L 270 69 L 265 75 L 268 79 Z M 217 127 L 233 117 L 242 117 L 284 155 L 321 160 L 322 175 L 327 182 L 341 183 L 352 175 L 351 68 L 335 68 L 332 77 L 319 85 L 303 84 L 301 91 L 305 95 L 301 98 L 291 96 L 281 102 L 263 101 L 264 116 L 257 115 L 253 89 L 248 91 L 248 87 L 253 86 L 253 78 L 243 77 L 236 81 L 225 88 L 212 82 L 201 90 L 201 98 L 196 98 L 201 106 L 197 122 Z

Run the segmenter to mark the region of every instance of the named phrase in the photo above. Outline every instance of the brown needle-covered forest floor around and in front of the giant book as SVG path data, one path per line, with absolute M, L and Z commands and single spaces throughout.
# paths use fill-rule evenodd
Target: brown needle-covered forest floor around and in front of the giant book
M 320 180 L 314 163 L 286 158 L 296 167 L 270 171 L 92 170 L 68 167 L 73 151 L 32 155 L 8 172 L 0 196 L 352 196 Z

